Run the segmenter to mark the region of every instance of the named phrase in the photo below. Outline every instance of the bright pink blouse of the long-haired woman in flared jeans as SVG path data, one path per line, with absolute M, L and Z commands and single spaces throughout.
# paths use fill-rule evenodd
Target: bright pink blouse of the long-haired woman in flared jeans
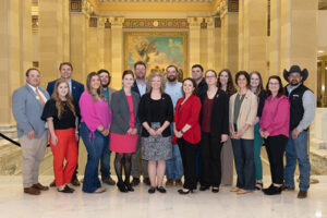
M 99 125 L 108 128 L 111 123 L 111 110 L 105 100 L 92 100 L 90 94 L 85 90 L 80 98 L 81 122 L 94 133 Z

